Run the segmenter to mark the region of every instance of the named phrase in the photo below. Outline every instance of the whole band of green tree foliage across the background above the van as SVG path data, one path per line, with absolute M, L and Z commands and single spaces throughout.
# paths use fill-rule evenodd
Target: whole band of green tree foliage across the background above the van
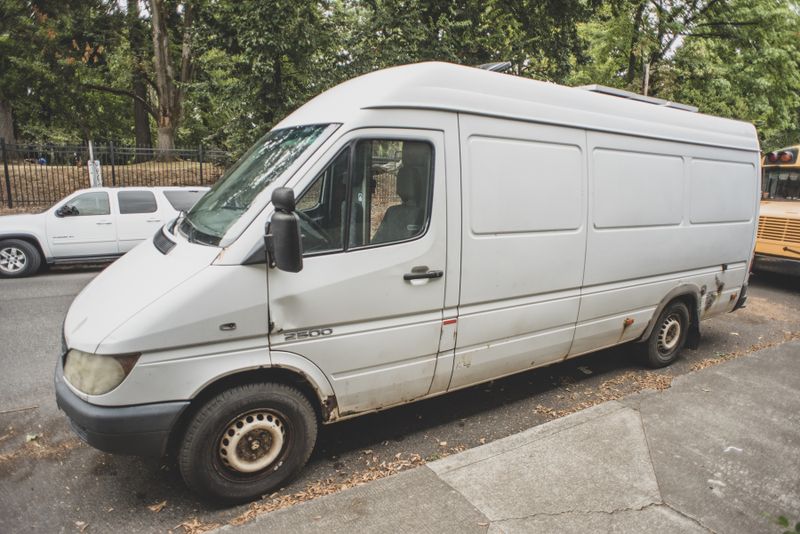
M 152 82 L 150 13 L 119 0 L 3 0 L 0 100 L 23 141 L 134 142 L 133 84 Z M 165 0 L 180 63 L 179 0 Z M 600 83 L 800 138 L 795 0 L 194 0 L 177 144 L 241 153 L 320 92 L 426 60 L 511 61 L 520 76 Z M 131 39 L 132 32 L 136 38 Z M 133 44 L 132 44 L 133 43 Z M 141 83 L 141 82 L 140 82 Z M 157 110 L 148 83 L 145 100 Z M 140 85 L 141 87 L 141 85 Z M 2 103 L 2 102 L 0 102 Z M 153 113 L 155 114 L 155 113 Z M 155 117 L 150 119 L 155 131 Z

